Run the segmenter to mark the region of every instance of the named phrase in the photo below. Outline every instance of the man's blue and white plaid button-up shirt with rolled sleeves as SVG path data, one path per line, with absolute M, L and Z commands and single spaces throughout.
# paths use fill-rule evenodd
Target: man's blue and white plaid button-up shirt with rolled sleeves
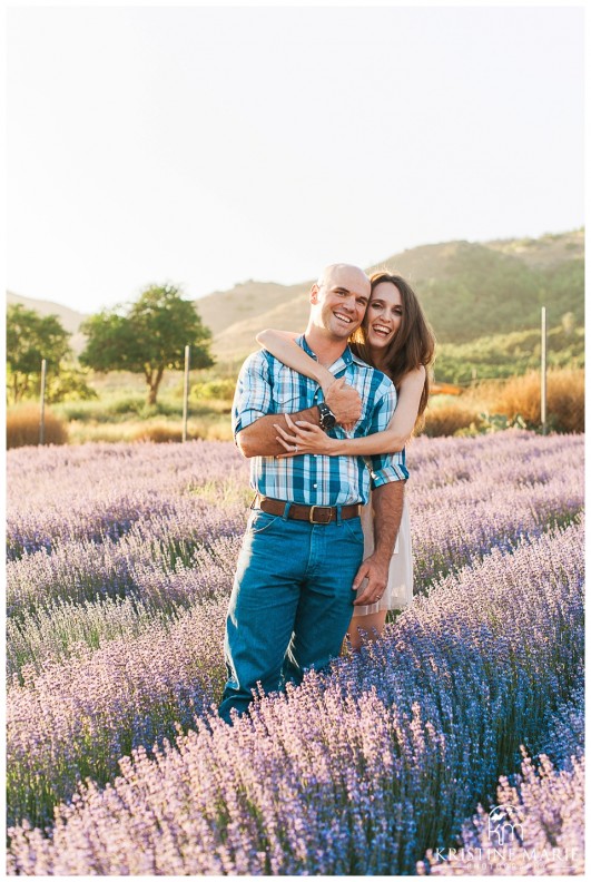
M 296 343 L 316 359 L 304 336 L 298 337 Z M 348 346 L 329 370 L 336 378 L 345 376 L 346 382 L 359 393 L 363 412 L 353 437 L 387 429 L 396 408 L 396 390 L 390 379 L 356 357 Z M 287 367 L 266 350 L 254 352 L 243 364 L 236 385 L 234 437 L 260 416 L 296 413 L 323 400 L 322 389 L 314 380 Z M 339 425 L 335 425 L 328 434 L 347 438 Z M 351 433 L 348 437 L 352 437 Z M 404 450 L 370 457 L 370 460 L 371 476 L 362 457 L 312 453 L 288 459 L 253 457 L 250 487 L 262 496 L 304 506 L 346 506 L 368 501 L 370 479 L 372 487 L 380 487 L 408 477 Z

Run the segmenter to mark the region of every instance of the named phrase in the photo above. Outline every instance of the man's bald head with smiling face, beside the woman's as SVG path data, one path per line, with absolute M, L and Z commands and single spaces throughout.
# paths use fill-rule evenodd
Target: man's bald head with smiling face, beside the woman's
M 325 273 L 321 285 L 312 286 L 312 321 L 331 336 L 346 340 L 363 322 L 371 284 L 357 266 L 341 264 Z

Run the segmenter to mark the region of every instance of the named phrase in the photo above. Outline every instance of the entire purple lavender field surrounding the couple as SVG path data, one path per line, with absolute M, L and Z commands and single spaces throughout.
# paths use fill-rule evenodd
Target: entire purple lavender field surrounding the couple
M 10 874 L 583 873 L 583 438 L 408 465 L 413 606 L 229 728 L 235 448 L 9 453 Z

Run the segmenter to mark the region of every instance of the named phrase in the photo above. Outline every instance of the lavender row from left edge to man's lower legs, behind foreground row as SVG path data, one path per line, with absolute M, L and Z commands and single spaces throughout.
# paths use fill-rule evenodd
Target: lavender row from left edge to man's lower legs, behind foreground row
M 95 651 L 78 644 L 40 674 L 24 666 L 7 697 L 10 816 L 47 822 L 78 781 L 107 782 L 120 756 L 206 714 L 224 680 L 225 611 L 196 606 Z

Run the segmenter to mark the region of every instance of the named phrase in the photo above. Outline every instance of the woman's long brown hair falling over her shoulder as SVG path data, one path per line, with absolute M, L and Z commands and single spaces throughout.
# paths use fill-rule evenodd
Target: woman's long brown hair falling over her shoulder
M 392 382 L 398 389 L 403 378 L 410 371 L 415 371 L 421 365 L 425 367 L 425 384 L 418 403 L 415 428 L 422 424 L 421 419 L 429 401 L 430 389 L 430 366 L 435 353 L 435 335 L 431 330 L 418 298 L 411 285 L 402 276 L 394 275 L 386 271 L 374 273 L 371 278 L 372 292 L 381 282 L 392 282 L 401 293 L 402 298 L 402 322 L 394 340 L 390 344 L 384 360 L 384 371 L 388 374 Z M 367 314 L 366 314 L 367 315 Z M 370 347 L 367 345 L 365 324 L 352 335 L 351 346 L 361 359 L 372 363 Z

